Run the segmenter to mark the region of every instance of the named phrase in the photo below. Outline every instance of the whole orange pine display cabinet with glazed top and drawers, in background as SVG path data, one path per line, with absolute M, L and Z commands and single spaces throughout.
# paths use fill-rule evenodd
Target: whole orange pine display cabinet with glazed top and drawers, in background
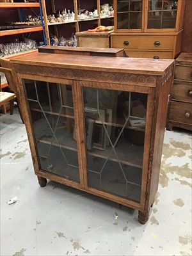
M 111 47 L 129 57 L 176 58 L 180 54 L 185 0 L 114 0 Z

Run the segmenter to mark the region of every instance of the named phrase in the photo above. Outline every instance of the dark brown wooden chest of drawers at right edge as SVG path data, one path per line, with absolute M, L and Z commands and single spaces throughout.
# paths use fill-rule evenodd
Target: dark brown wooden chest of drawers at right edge
M 192 53 L 182 52 L 176 59 L 166 128 L 192 131 Z

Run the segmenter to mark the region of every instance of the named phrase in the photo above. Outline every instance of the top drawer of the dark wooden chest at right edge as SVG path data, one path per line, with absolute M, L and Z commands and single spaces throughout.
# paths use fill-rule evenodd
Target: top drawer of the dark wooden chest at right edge
M 175 65 L 175 79 L 192 81 L 192 67 L 184 65 Z

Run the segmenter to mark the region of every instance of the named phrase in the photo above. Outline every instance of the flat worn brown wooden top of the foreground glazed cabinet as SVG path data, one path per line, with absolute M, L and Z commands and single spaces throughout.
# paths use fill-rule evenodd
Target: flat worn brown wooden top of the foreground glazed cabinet
M 95 70 L 107 72 L 122 72 L 132 74 L 150 74 L 163 76 L 173 65 L 174 60 L 154 60 L 142 58 L 83 56 L 71 54 L 52 54 L 35 52 L 26 56 L 14 58 L 12 63 L 20 65 L 35 65 L 43 67 L 72 68 L 80 70 Z

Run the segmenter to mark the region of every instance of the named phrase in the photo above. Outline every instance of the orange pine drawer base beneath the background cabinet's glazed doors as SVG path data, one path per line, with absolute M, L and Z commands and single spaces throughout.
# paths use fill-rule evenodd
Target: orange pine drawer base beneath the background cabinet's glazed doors
M 174 59 L 179 55 L 179 33 L 112 33 L 111 47 L 124 48 L 130 58 Z

